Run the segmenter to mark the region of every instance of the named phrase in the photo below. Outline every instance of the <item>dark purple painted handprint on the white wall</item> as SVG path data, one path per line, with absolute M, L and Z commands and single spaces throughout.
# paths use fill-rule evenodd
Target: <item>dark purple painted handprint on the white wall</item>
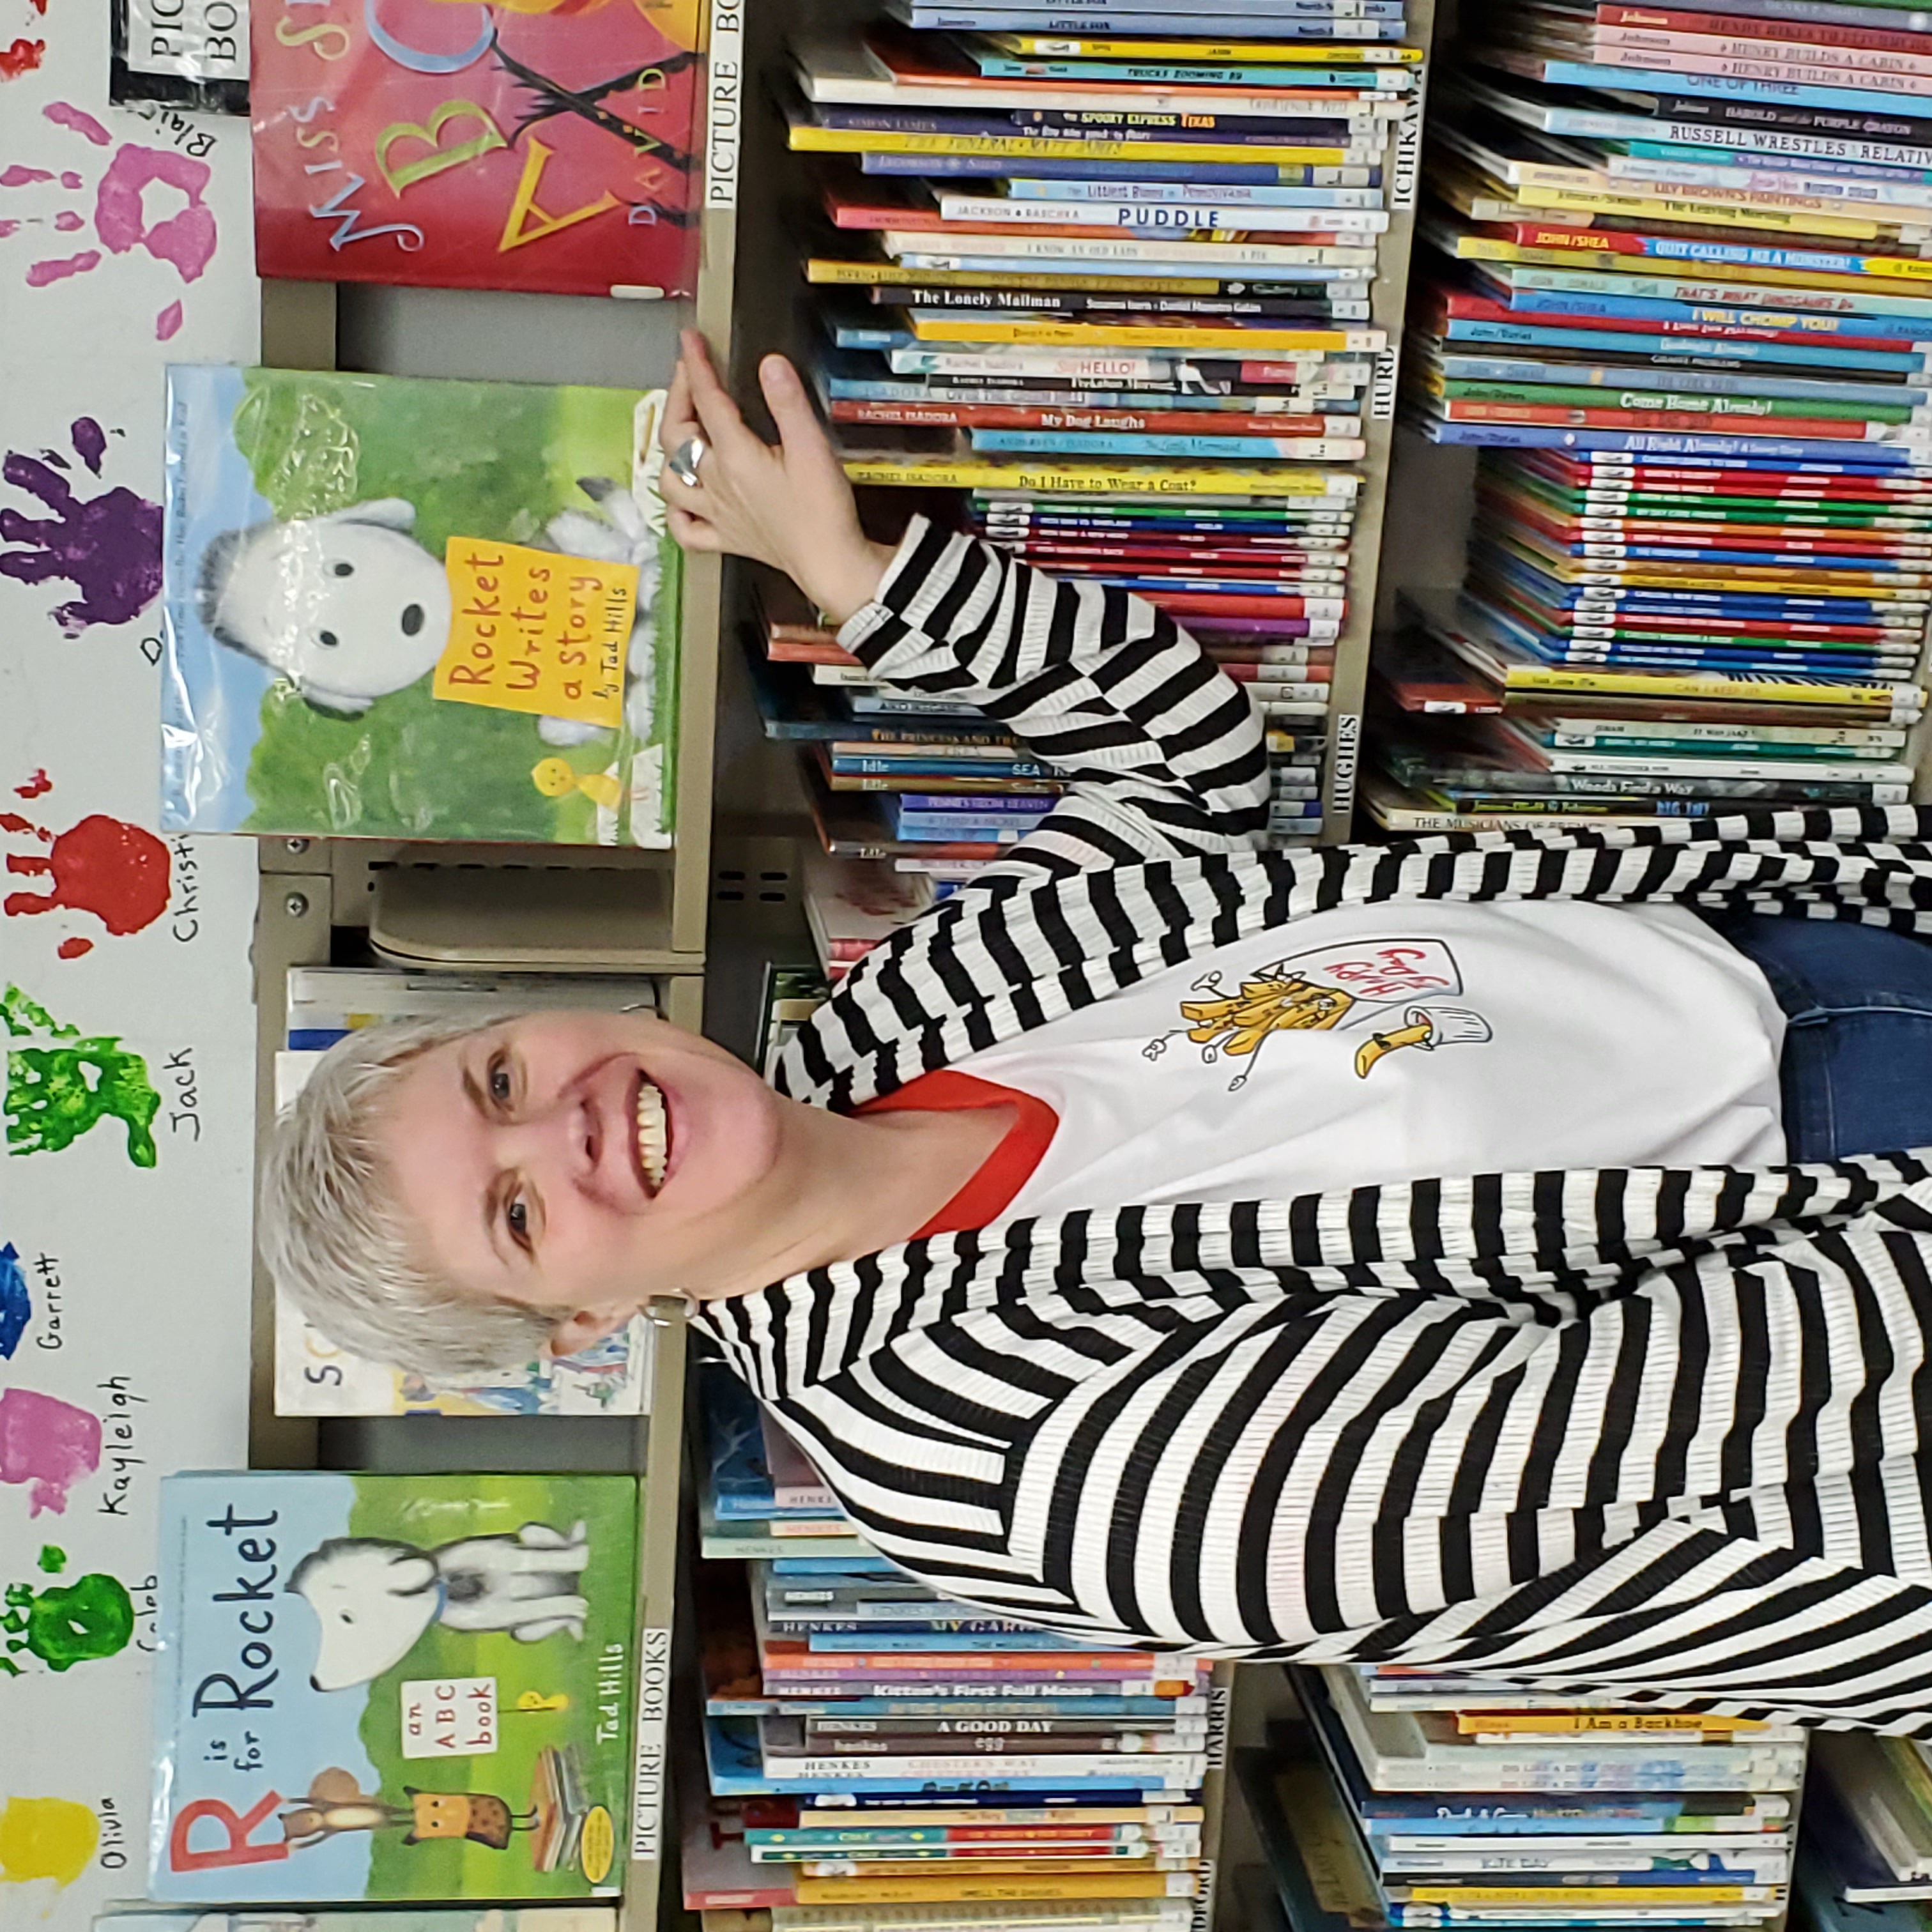
M 100 475 L 106 452 L 100 425 L 83 415 L 71 439 L 73 454 Z M 77 638 L 89 624 L 126 624 L 155 601 L 160 591 L 160 504 L 131 489 L 77 497 L 64 469 L 71 464 L 54 450 L 41 456 L 8 450 L 0 477 L 37 497 L 52 516 L 0 508 L 0 539 L 23 545 L 0 551 L 0 572 L 21 583 L 73 583 L 81 595 L 52 616 L 68 638 Z

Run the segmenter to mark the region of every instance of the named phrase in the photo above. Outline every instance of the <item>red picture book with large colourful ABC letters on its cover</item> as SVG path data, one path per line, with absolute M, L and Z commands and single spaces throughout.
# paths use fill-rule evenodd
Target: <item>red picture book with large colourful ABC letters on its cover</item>
M 692 292 L 697 0 L 249 14 L 263 274 Z

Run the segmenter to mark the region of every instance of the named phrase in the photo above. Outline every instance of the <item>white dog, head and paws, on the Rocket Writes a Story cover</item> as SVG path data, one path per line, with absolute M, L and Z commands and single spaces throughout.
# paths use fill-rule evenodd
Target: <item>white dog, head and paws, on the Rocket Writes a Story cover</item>
M 580 477 L 578 487 L 601 516 L 562 510 L 545 535 L 566 556 L 638 566 L 624 717 L 638 738 L 649 738 L 657 533 L 622 485 Z M 355 717 L 427 678 L 450 641 L 450 582 L 410 535 L 413 527 L 415 504 L 383 497 L 328 516 L 222 531 L 201 553 L 195 611 L 216 643 L 278 670 L 317 711 Z M 611 736 L 564 719 L 539 728 L 558 746 Z

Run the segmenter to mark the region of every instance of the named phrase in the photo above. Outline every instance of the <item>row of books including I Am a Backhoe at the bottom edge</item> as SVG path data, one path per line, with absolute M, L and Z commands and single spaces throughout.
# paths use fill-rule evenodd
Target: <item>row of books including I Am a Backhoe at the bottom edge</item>
M 1797 1727 L 1294 1671 L 1306 1723 L 1235 1768 L 1294 1932 L 1774 1926 Z

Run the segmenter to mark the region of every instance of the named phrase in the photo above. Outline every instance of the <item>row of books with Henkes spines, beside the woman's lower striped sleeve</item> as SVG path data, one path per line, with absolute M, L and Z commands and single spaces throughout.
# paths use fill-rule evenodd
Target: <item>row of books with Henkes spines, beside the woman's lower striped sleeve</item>
M 1188 1926 L 1206 1667 L 941 1596 L 854 1534 L 736 1378 L 703 1364 L 699 1389 L 705 1743 L 682 1766 L 682 1872 L 707 1932 Z

